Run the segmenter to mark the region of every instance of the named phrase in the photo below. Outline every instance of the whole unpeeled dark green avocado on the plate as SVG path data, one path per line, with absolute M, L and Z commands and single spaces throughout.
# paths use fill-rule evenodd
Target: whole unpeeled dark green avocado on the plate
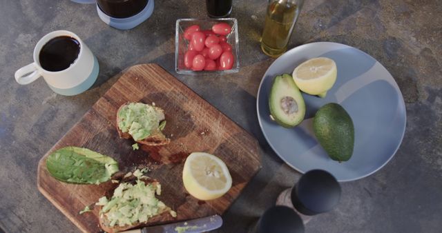
M 316 112 L 313 130 L 331 159 L 348 161 L 354 148 L 354 125 L 347 111 L 338 103 L 327 103 Z

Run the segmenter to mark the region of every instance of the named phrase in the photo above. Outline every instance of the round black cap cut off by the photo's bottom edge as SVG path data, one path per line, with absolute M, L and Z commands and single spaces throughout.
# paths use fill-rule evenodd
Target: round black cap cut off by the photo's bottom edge
M 296 212 L 287 206 L 276 205 L 262 214 L 258 233 L 303 233 L 304 224 Z

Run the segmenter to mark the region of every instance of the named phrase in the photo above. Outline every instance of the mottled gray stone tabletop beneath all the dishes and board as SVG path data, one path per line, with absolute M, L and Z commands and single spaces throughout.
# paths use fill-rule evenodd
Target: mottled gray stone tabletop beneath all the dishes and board
M 36 185 L 41 156 L 111 87 L 112 78 L 137 63 L 159 63 L 227 114 L 262 147 L 262 170 L 224 216 L 219 232 L 245 232 L 298 179 L 262 137 L 256 93 L 273 59 L 259 48 L 265 0 L 233 1 L 239 22 L 237 74 L 191 77 L 174 72 L 175 20 L 205 17 L 204 1 L 155 1 L 148 21 L 133 30 L 108 27 L 94 6 L 68 0 L 0 0 L 0 231 L 78 232 Z M 440 232 L 442 229 L 442 1 L 309 0 L 289 48 L 312 41 L 346 43 L 381 61 L 398 83 L 407 107 L 401 148 L 385 167 L 343 183 L 336 210 L 320 214 L 306 232 Z M 70 30 L 95 53 L 94 87 L 76 97 L 54 94 L 43 79 L 18 85 L 14 72 L 32 62 L 37 41 Z

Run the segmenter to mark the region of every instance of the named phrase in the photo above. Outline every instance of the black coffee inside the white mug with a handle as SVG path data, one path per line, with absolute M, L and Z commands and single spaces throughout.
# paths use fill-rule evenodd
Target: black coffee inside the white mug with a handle
M 61 71 L 74 63 L 80 52 L 80 43 L 73 37 L 55 37 L 43 45 L 39 61 L 48 71 Z

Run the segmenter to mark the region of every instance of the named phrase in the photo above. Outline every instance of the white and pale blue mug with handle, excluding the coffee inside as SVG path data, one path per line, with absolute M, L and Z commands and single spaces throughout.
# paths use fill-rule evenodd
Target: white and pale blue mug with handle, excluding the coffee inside
M 70 67 L 61 71 L 48 71 L 41 67 L 39 54 L 41 48 L 55 37 L 73 37 L 79 42 L 80 50 L 77 59 Z M 88 46 L 73 32 L 54 31 L 39 40 L 34 49 L 34 62 L 23 66 L 15 72 L 15 80 L 21 85 L 32 83 L 43 77 L 49 88 L 57 94 L 71 96 L 88 90 L 97 80 L 99 65 L 97 58 Z

